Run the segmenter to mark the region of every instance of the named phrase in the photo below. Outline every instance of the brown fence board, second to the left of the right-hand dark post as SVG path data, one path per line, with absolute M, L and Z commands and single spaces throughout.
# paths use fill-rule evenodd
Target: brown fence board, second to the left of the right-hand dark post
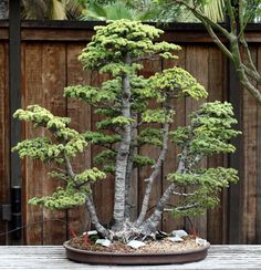
M 190 72 L 206 90 L 208 89 L 208 46 L 191 45 L 186 51 L 186 70 Z M 199 69 L 200 66 L 200 69 Z M 188 115 L 196 111 L 203 101 L 186 100 L 186 121 L 189 124 Z M 201 166 L 207 166 L 207 160 L 200 163 Z M 203 238 L 207 238 L 207 214 L 201 217 L 191 218 L 196 232 Z

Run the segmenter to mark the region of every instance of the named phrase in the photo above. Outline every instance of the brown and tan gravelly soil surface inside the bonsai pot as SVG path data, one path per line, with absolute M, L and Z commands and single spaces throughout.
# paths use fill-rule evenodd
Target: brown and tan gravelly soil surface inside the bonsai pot
M 176 252 L 186 251 L 190 249 L 200 248 L 201 246 L 195 242 L 194 236 L 187 236 L 182 238 L 182 242 L 173 242 L 168 238 L 161 240 L 150 240 L 145 241 L 146 246 L 138 249 L 133 249 L 123 242 L 114 241 L 109 247 L 103 247 L 101 245 L 95 245 L 94 241 L 90 239 L 86 241 L 84 236 L 75 237 L 70 240 L 69 245 L 76 249 L 83 249 L 88 251 L 98 252 L 143 252 L 143 253 L 164 253 L 164 252 Z

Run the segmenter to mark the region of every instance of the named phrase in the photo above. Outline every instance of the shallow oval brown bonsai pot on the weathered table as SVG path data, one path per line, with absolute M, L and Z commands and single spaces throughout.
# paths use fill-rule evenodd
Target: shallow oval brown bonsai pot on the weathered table
M 90 264 L 126 264 L 126 266 L 152 266 L 152 264 L 175 264 L 200 261 L 208 255 L 210 243 L 206 246 L 169 253 L 121 253 L 121 252 L 94 252 L 75 249 L 64 242 L 66 257 L 70 260 L 85 262 Z

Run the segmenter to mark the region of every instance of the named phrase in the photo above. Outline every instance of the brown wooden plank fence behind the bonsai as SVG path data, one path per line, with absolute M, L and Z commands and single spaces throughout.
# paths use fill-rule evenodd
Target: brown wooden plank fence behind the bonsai
M 58 115 L 72 118 L 72 126 L 80 132 L 94 129 L 96 117 L 92 108 L 75 100 L 63 97 L 63 87 L 72 84 L 92 83 L 100 85 L 106 77 L 97 73 L 83 72 L 77 55 L 93 35 L 93 25 L 74 22 L 22 22 L 21 28 L 21 103 L 39 104 Z M 261 71 L 261 32 L 252 27 L 248 39 L 257 66 Z M 166 28 L 163 37 L 168 42 L 182 46 L 178 61 L 146 62 L 143 74 L 178 64 L 189 71 L 209 91 L 209 101 L 230 100 L 236 104 L 237 116 L 243 135 L 236 141 L 238 150 L 230 157 L 215 156 L 205 160 L 208 166 L 234 165 L 240 169 L 240 183 L 220 194 L 220 205 L 208 210 L 200 218 L 194 218 L 196 231 L 212 243 L 261 243 L 261 107 L 247 91 L 240 90 L 234 73 L 227 59 L 216 48 L 202 27 L 196 24 L 174 24 Z M 0 204 L 10 201 L 10 110 L 9 110 L 9 35 L 8 24 L 0 24 Z M 177 104 L 175 126 L 184 125 L 188 114 L 198 107 L 199 102 L 190 100 Z M 22 137 L 43 134 L 43 131 L 22 125 Z M 90 166 L 96 147 L 91 147 L 74 160 L 76 168 Z M 174 149 L 175 150 L 175 149 Z M 148 149 L 143 147 L 142 153 Z M 154 149 L 149 153 L 157 155 Z M 170 152 L 165 162 L 160 179 L 153 191 L 150 207 L 166 188 L 165 176 L 175 168 Z M 48 167 L 40 162 L 22 162 L 22 220 L 30 225 L 23 230 L 25 245 L 60 245 L 69 237 L 66 224 L 77 233 L 90 228 L 90 221 L 83 207 L 69 211 L 50 211 L 27 204 L 35 195 L 46 195 L 56 183 L 46 177 Z M 143 179 L 149 168 L 136 173 L 133 189 L 133 202 L 140 205 L 144 191 Z M 109 222 L 112 214 L 114 180 L 108 177 L 95 186 L 95 204 L 104 224 Z M 171 201 L 169 202 L 171 204 Z M 136 215 L 135 211 L 132 214 Z M 61 222 L 60 219 L 64 222 Z M 50 221 L 48 221 L 50 220 Z M 184 219 L 174 220 L 164 215 L 161 228 L 171 231 L 188 228 Z M 9 222 L 0 220 L 0 231 L 10 229 Z M 0 236 L 0 243 L 10 243 L 10 238 Z

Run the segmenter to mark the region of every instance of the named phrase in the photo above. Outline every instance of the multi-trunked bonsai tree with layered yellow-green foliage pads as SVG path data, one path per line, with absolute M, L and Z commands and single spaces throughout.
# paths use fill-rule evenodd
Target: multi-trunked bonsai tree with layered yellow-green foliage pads
M 96 34 L 79 59 L 85 70 L 108 73 L 109 80 L 101 87 L 69 86 L 64 95 L 86 102 L 94 107 L 96 114 L 103 116 L 96 123 L 97 131 L 80 134 L 70 127 L 70 118 L 54 116 L 39 105 L 30 105 L 25 110 L 18 110 L 14 117 L 32 122 L 35 127 L 46 128 L 49 135 L 25 139 L 13 147 L 13 150 L 21 158 L 29 156 L 52 163 L 56 169 L 50 176 L 64 181 L 52 195 L 32 198 L 30 204 L 51 209 L 85 204 L 92 224 L 103 237 L 128 241 L 156 232 L 170 196 L 178 198 L 177 205 L 171 208 L 175 216 L 200 215 L 206 208 L 213 207 L 218 202 L 217 193 L 229 183 L 238 180 L 237 172 L 223 167 L 201 168 L 200 162 L 213 154 L 232 153 L 234 147 L 229 144 L 229 139 L 239 132 L 231 127 L 237 123 L 232 106 L 218 101 L 205 103 L 194 112 L 190 125 L 170 131 L 176 113 L 173 100 L 206 98 L 207 91 L 188 72 L 177 66 L 148 79 L 138 72 L 143 69 L 143 60 L 153 61 L 155 55 L 175 59 L 173 52 L 180 48 L 164 41 L 154 42 L 163 31 L 137 21 L 118 20 L 95 27 L 95 30 Z M 152 101 L 155 105 L 149 108 Z M 177 170 L 168 175 L 169 186 L 154 211 L 148 215 L 152 188 L 169 150 L 169 139 L 180 149 L 176 153 Z M 72 158 L 90 144 L 102 146 L 93 159 L 97 168 L 75 172 Z M 142 145 L 158 147 L 158 157 L 137 154 Z M 140 212 L 132 220 L 130 179 L 134 169 L 144 166 L 152 166 L 152 173 L 146 179 L 139 179 L 146 183 L 146 188 Z M 92 188 L 96 180 L 106 180 L 108 174 L 115 177 L 115 196 L 111 227 L 106 228 L 98 220 Z

